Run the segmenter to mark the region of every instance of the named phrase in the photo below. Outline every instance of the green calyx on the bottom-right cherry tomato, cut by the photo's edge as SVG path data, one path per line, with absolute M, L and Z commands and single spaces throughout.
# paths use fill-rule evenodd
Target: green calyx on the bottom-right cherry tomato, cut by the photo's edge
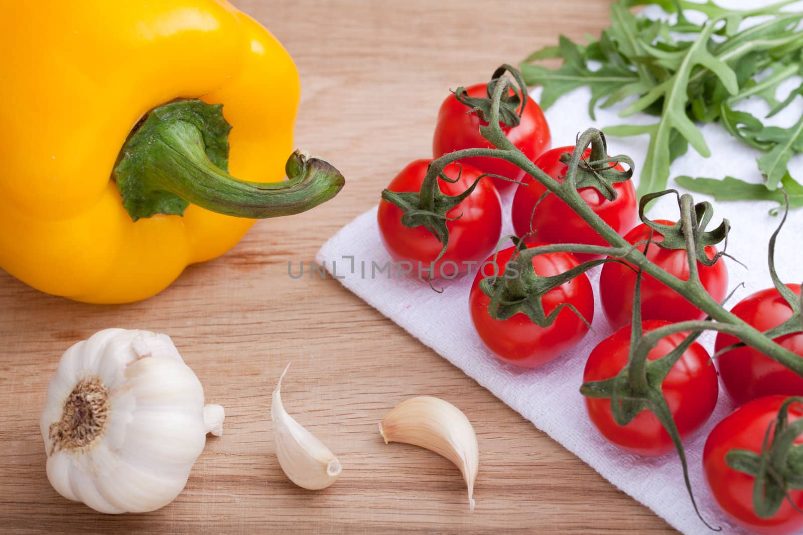
M 760 518 L 774 517 L 784 500 L 803 513 L 789 497 L 790 490 L 803 489 L 803 444 L 794 444 L 803 433 L 803 419 L 789 424 L 792 403 L 803 403 L 803 397 L 785 399 L 777 419 L 767 428 L 760 453 L 736 448 L 725 454 L 725 463 L 730 468 L 756 478 L 752 505 Z

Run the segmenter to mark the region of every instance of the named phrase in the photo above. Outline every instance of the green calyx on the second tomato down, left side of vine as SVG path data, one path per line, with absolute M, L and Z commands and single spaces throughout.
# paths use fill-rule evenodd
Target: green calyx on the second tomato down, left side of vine
M 504 272 L 493 274 L 479 282 L 479 289 L 488 298 L 491 298 L 491 302 L 488 305 L 488 315 L 491 318 L 503 321 L 521 313 L 530 318 L 537 326 L 546 327 L 552 325 L 560 310 L 569 308 L 590 328 L 591 325 L 588 320 L 571 303 L 560 303 L 555 310 L 552 310 L 547 315 L 544 312 L 542 299 L 548 292 L 569 282 L 578 275 L 584 274 L 595 265 L 617 260 L 602 258 L 600 260 L 587 261 L 564 273 L 543 277 L 536 274 L 536 270 L 532 265 L 532 258 L 538 254 L 565 249 L 565 247 L 556 248 L 554 245 L 542 245 L 528 249 L 524 240 L 516 236 L 504 237 L 502 241 L 507 241 L 508 238 L 516 245 L 516 251 L 513 253 L 511 260 L 505 265 Z

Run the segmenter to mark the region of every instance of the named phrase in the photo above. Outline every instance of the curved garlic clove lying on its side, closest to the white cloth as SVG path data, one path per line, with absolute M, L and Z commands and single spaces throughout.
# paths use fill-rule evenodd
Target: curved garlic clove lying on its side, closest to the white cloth
M 474 510 L 474 481 L 479 470 L 479 447 L 471 422 L 448 401 L 422 395 L 399 403 L 379 424 L 389 442 L 426 448 L 446 457 L 463 472 L 468 487 L 468 505 Z

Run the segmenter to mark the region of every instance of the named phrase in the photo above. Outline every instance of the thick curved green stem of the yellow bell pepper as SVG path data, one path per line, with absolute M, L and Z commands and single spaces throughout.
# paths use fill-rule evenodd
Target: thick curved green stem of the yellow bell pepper
M 302 151 L 287 160 L 289 180 L 260 183 L 231 176 L 229 130 L 221 107 L 199 100 L 151 111 L 130 136 L 115 169 L 132 219 L 181 215 L 190 203 L 234 217 L 287 216 L 320 205 L 343 188 L 344 178 L 332 164 Z

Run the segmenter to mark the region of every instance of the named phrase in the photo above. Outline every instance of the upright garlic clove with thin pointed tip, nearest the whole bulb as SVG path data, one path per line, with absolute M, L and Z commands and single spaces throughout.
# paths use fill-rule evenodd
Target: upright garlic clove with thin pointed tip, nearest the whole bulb
M 302 488 L 319 490 L 327 488 L 340 476 L 340 461 L 324 446 L 324 443 L 308 432 L 282 404 L 282 379 L 287 373 L 284 368 L 279 384 L 273 391 L 271 420 L 276 442 L 276 456 L 279 464 L 290 480 Z

